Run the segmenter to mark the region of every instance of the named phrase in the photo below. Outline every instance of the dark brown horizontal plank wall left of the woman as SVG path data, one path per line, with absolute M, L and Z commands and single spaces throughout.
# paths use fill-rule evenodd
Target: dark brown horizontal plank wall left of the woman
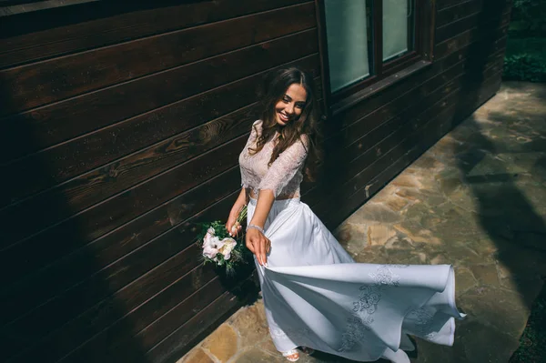
M 263 77 L 320 75 L 312 1 L 102 3 L 1 20 L 7 362 L 162 362 L 238 308 L 251 270 L 203 267 L 195 223 L 237 197 Z

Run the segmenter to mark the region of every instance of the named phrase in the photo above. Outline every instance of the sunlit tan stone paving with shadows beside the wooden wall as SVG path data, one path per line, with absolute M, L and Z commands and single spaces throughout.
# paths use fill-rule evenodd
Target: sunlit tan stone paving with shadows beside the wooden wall
M 412 362 L 508 362 L 546 276 L 546 85 L 504 84 L 335 232 L 359 262 L 455 267 L 468 317 L 451 348 L 418 339 Z M 258 300 L 179 363 L 286 361 Z

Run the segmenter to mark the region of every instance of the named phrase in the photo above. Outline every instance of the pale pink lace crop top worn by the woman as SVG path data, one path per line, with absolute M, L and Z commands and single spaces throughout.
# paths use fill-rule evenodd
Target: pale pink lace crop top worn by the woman
M 299 185 L 303 180 L 303 164 L 308 155 L 307 137 L 302 136 L 301 142 L 297 141 L 288 146 L 284 152 L 280 153 L 277 160 L 268 166 L 278 134 L 272 137 L 257 154 L 250 155 L 248 147 L 256 146 L 260 133 L 261 121 L 258 120 L 252 125 L 247 145 L 239 155 L 241 186 L 251 188 L 256 196 L 259 190 L 269 189 L 273 191 L 276 198 L 299 197 Z

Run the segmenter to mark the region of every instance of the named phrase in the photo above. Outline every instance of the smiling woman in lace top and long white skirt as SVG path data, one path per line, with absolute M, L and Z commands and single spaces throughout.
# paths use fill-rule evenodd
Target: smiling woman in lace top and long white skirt
M 405 333 L 453 343 L 454 275 L 448 265 L 354 263 L 299 201 L 304 170 L 316 164 L 317 101 L 298 68 L 269 76 L 248 143 L 239 156 L 242 189 L 227 220 L 237 234 L 248 203 L 247 247 L 255 255 L 269 332 L 289 361 L 301 347 L 344 358 L 410 359 Z

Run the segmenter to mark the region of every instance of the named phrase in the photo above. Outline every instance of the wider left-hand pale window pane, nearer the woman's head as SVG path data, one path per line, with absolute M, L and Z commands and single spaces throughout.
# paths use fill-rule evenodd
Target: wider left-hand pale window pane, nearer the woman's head
M 365 0 L 325 0 L 332 92 L 369 76 Z

